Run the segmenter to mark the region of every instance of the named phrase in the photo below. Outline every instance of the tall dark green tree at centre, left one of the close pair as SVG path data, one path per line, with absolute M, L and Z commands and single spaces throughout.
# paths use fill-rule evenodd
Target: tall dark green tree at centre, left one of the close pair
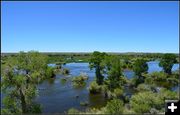
M 104 60 L 106 55 L 107 54 L 104 52 L 101 53 L 98 51 L 94 51 L 90 58 L 90 68 L 95 68 L 96 82 L 98 83 L 98 85 L 102 85 L 104 80 L 104 76 L 102 75 L 104 67 L 101 66 L 101 62 Z

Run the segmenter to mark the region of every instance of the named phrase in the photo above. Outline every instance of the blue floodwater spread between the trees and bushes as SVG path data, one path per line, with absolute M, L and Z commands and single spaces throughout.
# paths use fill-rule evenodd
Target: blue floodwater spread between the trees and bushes
M 148 63 L 148 72 L 162 71 L 158 66 L 158 61 L 151 61 Z M 50 64 L 49 66 L 54 66 Z M 76 108 L 81 111 L 90 107 L 102 107 L 106 104 L 106 99 L 101 94 L 91 95 L 88 91 L 88 86 L 95 78 L 95 70 L 89 69 L 88 63 L 68 63 L 63 67 L 70 70 L 70 75 L 64 76 L 57 74 L 54 79 L 45 80 L 38 86 L 39 95 L 36 102 L 42 105 L 43 113 L 64 113 L 70 108 Z M 174 64 L 172 70 L 177 70 L 179 64 Z M 87 73 L 89 79 L 86 85 L 82 88 L 74 88 L 71 78 L 78 76 L 81 72 Z M 125 70 L 123 74 L 131 79 L 134 76 L 132 70 Z M 69 79 L 63 82 L 61 79 Z M 80 102 L 88 102 L 88 106 L 81 106 Z

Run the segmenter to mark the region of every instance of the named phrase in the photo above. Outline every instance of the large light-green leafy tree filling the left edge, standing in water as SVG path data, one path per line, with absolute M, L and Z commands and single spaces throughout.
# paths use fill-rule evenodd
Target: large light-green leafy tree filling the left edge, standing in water
M 33 103 L 36 85 L 46 74 L 46 57 L 38 52 L 20 52 L 6 63 L 1 88 L 5 94 L 2 113 L 40 112 L 40 105 Z

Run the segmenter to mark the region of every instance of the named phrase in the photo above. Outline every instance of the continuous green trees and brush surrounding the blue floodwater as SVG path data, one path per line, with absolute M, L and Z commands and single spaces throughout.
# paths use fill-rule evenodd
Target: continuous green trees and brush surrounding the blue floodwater
M 6 96 L 1 113 L 41 113 L 41 105 L 34 102 L 38 93 L 37 85 L 45 79 L 54 78 L 57 72 L 68 75 L 70 71 L 62 65 L 78 60 L 89 62 L 89 68 L 95 69 L 96 77 L 88 88 L 89 93 L 101 93 L 109 101 L 102 108 L 89 108 L 85 112 L 71 108 L 69 114 L 163 113 L 165 99 L 178 99 L 178 92 L 172 91 L 179 83 L 179 72 L 172 72 L 173 64 L 178 62 L 177 58 L 175 54 L 120 55 L 98 51 L 60 56 L 30 51 L 3 56 L 1 90 Z M 146 62 L 150 60 L 159 60 L 163 71 L 148 73 Z M 49 63 L 55 63 L 56 66 L 50 67 Z M 124 69 L 132 69 L 135 76 L 127 79 L 123 75 Z M 87 79 L 88 76 L 81 73 L 71 81 L 74 87 L 82 87 Z M 130 97 L 124 95 L 125 87 L 133 89 L 135 93 Z

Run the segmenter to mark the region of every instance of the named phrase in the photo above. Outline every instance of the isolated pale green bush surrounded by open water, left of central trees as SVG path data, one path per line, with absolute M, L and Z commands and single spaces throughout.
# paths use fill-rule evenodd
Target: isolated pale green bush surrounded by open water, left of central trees
M 87 74 L 81 73 L 79 76 L 73 77 L 72 82 L 74 87 L 82 87 L 85 86 L 85 80 L 88 79 Z

